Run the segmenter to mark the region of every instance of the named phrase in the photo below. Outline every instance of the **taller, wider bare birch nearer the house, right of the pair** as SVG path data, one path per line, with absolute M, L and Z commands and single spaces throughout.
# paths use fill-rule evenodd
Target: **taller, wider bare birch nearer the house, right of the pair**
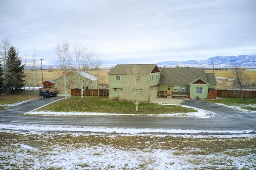
M 94 76 L 88 73 L 88 70 L 95 70 L 97 64 L 97 57 L 93 49 L 83 46 L 81 43 L 74 43 L 74 56 L 76 57 L 76 72 L 78 73 L 78 79 L 81 85 L 81 98 L 84 98 L 84 90 L 88 85 L 90 79 L 94 79 Z M 84 87 L 85 84 L 85 87 Z

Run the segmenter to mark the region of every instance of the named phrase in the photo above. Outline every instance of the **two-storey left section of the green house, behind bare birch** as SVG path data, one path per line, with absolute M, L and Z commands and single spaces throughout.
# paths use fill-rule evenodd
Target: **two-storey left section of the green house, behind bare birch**
M 138 64 L 140 69 L 144 71 L 144 75 L 148 77 L 149 88 L 158 85 L 160 79 L 160 69 L 156 64 Z M 118 64 L 108 72 L 108 93 L 109 96 L 118 97 L 122 95 L 124 80 L 127 78 L 129 71 L 134 67 L 134 64 Z M 150 95 L 150 99 L 157 97 L 157 89 Z M 144 99 L 148 101 L 148 99 Z

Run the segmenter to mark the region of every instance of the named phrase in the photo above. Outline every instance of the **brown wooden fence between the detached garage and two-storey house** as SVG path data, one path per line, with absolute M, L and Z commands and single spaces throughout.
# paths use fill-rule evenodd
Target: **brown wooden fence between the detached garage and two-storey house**
M 108 89 L 99 89 L 99 96 L 108 96 Z M 81 96 L 81 89 L 71 89 L 72 96 Z M 98 96 L 98 89 L 85 89 L 84 96 Z

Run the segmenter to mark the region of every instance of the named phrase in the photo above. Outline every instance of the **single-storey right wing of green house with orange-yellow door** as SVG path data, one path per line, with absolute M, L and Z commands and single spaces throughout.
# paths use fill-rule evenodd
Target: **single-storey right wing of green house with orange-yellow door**
M 214 74 L 205 73 L 204 68 L 160 69 L 158 92 L 166 96 L 208 98 L 208 90 L 215 89 L 217 84 Z

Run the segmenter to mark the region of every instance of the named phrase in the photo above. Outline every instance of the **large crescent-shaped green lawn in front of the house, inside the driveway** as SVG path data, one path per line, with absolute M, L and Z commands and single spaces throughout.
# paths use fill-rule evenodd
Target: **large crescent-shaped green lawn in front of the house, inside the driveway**
M 164 114 L 164 113 L 189 113 L 196 112 L 191 108 L 176 105 L 158 105 L 156 103 L 140 103 L 139 111 L 135 105 L 125 101 L 109 101 L 108 98 L 98 96 L 72 96 L 54 102 L 40 111 L 56 112 L 95 112 L 95 113 L 123 113 L 123 114 Z

